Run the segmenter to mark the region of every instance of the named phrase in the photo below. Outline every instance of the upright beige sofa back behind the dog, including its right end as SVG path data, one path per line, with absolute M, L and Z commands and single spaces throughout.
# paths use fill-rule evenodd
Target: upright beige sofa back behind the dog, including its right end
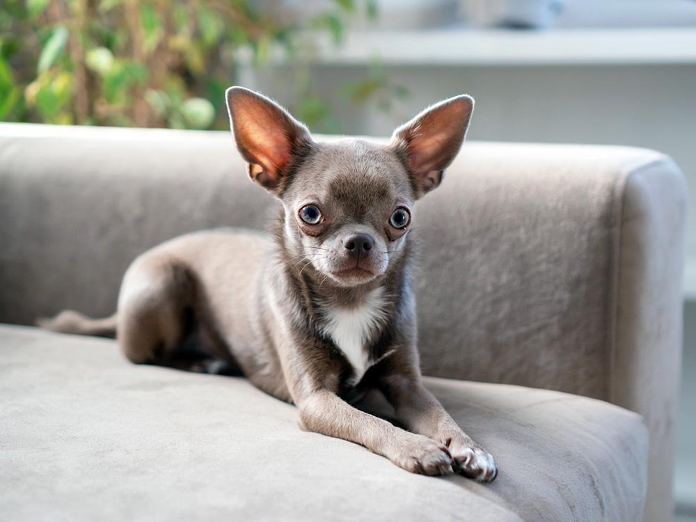
M 108 315 L 146 248 L 275 207 L 229 133 L 0 125 L 0 321 Z M 424 372 L 642 414 L 646 520 L 671 512 L 685 213 L 657 152 L 466 143 L 414 216 Z

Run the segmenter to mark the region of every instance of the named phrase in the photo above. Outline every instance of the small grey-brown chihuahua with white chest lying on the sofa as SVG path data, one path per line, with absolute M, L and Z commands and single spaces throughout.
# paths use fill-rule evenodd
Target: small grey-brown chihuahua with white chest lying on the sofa
M 294 402 L 303 429 L 413 473 L 494 480 L 493 457 L 422 385 L 408 240 L 413 204 L 459 152 L 473 99 L 440 102 L 378 144 L 317 143 L 267 97 L 226 96 L 251 179 L 280 200 L 275 240 L 244 230 L 172 239 L 131 264 L 112 317 L 66 310 L 40 326 L 115 333 L 134 363 L 244 374 Z M 375 391 L 395 423 L 367 413 Z

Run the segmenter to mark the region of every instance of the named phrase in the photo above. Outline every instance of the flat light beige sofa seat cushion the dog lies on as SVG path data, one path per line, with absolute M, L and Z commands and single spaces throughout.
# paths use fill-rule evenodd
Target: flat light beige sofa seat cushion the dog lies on
M 135 366 L 113 340 L 0 325 L 6 520 L 637 521 L 640 416 L 548 390 L 425 379 L 493 484 L 412 475 L 303 432 L 245 379 Z

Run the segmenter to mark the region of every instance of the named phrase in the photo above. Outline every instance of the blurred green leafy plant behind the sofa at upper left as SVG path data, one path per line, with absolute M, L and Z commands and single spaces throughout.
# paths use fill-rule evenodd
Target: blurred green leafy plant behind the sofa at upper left
M 1 0 L 0 120 L 226 127 L 223 93 L 235 82 L 239 56 L 255 65 L 292 61 L 300 33 L 328 33 L 340 45 L 349 17 L 359 10 L 377 16 L 374 0 L 328 1 L 326 10 L 291 22 L 274 17 L 274 6 L 278 2 Z M 383 106 L 385 93 L 398 91 L 373 67 L 343 94 L 356 103 L 381 96 Z M 308 81 L 292 109 L 313 129 L 336 130 Z

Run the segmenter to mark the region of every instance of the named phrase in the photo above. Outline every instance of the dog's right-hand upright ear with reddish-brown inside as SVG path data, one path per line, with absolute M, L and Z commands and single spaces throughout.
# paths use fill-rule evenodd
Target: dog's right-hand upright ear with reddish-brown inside
M 422 111 L 394 131 L 392 146 L 415 177 L 418 197 L 437 187 L 466 136 L 474 100 L 455 96 Z

